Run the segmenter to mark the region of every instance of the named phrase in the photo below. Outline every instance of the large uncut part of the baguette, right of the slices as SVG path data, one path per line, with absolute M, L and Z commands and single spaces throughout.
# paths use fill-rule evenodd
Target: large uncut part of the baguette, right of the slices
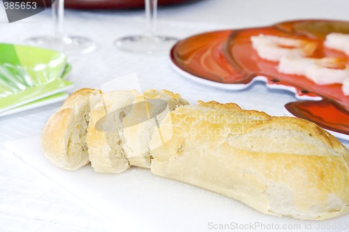
M 171 120 L 166 120 L 171 118 Z M 349 154 L 299 118 L 235 104 L 178 107 L 150 142 L 151 172 L 246 203 L 270 215 L 327 219 L 349 211 Z

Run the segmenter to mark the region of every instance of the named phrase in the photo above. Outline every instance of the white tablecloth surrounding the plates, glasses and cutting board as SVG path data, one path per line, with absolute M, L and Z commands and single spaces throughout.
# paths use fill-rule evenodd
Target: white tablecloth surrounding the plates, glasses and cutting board
M 1 5 L 1 4 L 0 4 Z M 267 26 L 298 19 L 349 21 L 348 0 L 200 0 L 158 9 L 158 33 L 186 38 L 219 29 Z M 237 102 L 244 109 L 283 115 L 285 102 L 295 97 L 255 83 L 248 91 L 226 91 L 196 84 L 170 68 L 168 55 L 128 54 L 114 49 L 115 38 L 144 31 L 143 10 L 66 10 L 68 35 L 94 40 L 96 51 L 69 56 L 73 66 L 68 79 L 72 91 L 97 87 L 110 79 L 137 72 L 143 90 L 162 89 L 181 93 L 189 102 L 221 100 Z M 0 42 L 23 43 L 30 36 L 52 33 L 50 10 L 8 24 L 0 6 Z M 0 54 L 1 56 L 1 54 Z M 202 94 L 202 93 L 205 93 Z M 0 150 L 4 142 L 40 134 L 47 118 L 61 102 L 0 118 Z M 348 146 L 348 141 L 343 141 Z M 112 222 L 84 204 L 52 180 L 1 151 L 0 231 L 108 231 Z

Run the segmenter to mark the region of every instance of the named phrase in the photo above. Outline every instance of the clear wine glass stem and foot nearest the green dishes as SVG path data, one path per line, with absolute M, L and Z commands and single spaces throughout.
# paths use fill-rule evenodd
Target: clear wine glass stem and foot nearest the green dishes
M 64 35 L 64 0 L 55 0 L 51 7 L 54 34 L 52 36 L 27 38 L 24 42 L 27 42 L 29 45 L 59 50 L 66 54 L 85 54 L 92 52 L 96 48 L 96 44 L 89 38 Z

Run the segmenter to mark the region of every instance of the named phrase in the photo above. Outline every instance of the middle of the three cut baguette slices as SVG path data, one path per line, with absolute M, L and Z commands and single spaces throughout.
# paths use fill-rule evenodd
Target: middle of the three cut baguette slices
M 119 132 L 124 116 L 139 94 L 138 91 L 103 93 L 101 102 L 91 109 L 86 141 L 94 171 L 120 173 L 130 167 Z

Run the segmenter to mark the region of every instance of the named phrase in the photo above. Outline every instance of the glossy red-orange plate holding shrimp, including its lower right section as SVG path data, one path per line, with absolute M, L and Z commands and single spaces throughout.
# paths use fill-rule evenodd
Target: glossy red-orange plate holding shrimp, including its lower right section
M 349 139 L 349 96 L 343 95 L 341 85 L 320 86 L 306 77 L 282 74 L 276 69 L 278 63 L 260 59 L 250 41 L 251 36 L 260 33 L 315 40 L 319 46 L 313 57 L 342 57 L 349 64 L 346 54 L 322 45 L 325 35 L 332 31 L 349 33 L 349 22 L 302 20 L 262 28 L 212 31 L 179 41 L 170 56 L 176 70 L 203 84 L 234 90 L 246 88 L 255 80 L 263 80 L 268 87 L 296 93 L 299 99 L 320 100 L 308 105 L 302 103 L 302 110 L 297 108 L 300 103 L 287 109 L 295 116 L 318 123 L 339 133 L 339 137 Z M 318 110 L 310 105 L 325 107 Z M 309 107 L 311 114 L 306 113 L 304 107 Z M 336 116 L 341 116 L 341 121 L 336 122 Z

